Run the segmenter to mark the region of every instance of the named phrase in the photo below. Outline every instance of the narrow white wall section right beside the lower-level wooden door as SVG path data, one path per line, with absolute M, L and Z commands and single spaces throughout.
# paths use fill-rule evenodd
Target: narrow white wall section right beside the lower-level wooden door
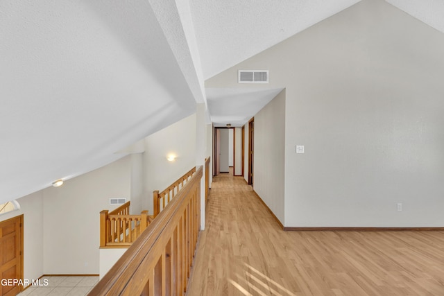
M 0 221 L 23 216 L 24 278 L 38 279 L 43 275 L 43 193 L 37 191 L 17 200 L 20 209 L 0 216 Z

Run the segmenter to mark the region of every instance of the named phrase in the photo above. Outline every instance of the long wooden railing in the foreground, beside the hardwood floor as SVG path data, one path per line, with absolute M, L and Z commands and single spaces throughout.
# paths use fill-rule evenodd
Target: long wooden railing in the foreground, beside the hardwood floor
M 200 228 L 200 166 L 90 296 L 183 295 Z

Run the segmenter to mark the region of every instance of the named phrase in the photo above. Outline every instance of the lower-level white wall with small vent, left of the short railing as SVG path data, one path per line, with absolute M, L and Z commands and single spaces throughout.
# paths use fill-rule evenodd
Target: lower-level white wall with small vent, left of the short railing
M 99 274 L 99 213 L 117 207 L 110 198 L 130 198 L 130 157 L 44 189 L 43 195 L 44 274 Z

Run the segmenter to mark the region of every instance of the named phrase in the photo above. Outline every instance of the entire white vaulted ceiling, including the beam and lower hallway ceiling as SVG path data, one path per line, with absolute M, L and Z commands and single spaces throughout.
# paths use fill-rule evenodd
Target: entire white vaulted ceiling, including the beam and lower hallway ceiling
M 242 124 L 280 89 L 205 80 L 357 2 L 0 1 L 0 202 L 118 159 L 196 103 Z M 444 32 L 444 1 L 387 2 Z

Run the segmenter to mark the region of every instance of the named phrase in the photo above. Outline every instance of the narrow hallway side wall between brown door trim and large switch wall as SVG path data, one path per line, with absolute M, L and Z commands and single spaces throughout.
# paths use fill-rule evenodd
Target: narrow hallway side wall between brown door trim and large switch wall
M 284 223 L 285 90 L 255 115 L 253 188 Z

